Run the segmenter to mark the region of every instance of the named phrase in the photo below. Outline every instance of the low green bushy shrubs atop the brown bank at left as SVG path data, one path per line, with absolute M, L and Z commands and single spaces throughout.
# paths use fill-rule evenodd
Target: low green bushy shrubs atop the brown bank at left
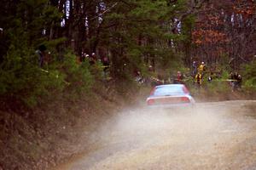
M 22 100 L 32 107 L 65 90 L 69 90 L 69 97 L 88 92 L 94 82 L 88 62 L 79 65 L 70 52 L 63 62 L 56 56 L 52 54 L 52 63 L 40 68 L 31 48 L 10 47 L 0 67 L 0 96 Z

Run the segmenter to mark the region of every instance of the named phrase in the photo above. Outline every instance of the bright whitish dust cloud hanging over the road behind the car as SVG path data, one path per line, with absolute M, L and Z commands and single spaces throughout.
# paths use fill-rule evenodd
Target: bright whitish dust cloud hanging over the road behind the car
M 224 119 L 233 111 L 233 108 L 212 104 L 199 104 L 195 108 L 185 109 L 146 106 L 128 108 L 102 124 L 97 134 L 108 141 L 115 138 L 116 142 L 129 138 L 144 140 L 147 135 L 155 139 L 165 133 L 209 133 L 209 130 L 217 130 L 219 127 L 235 126 L 234 122 Z

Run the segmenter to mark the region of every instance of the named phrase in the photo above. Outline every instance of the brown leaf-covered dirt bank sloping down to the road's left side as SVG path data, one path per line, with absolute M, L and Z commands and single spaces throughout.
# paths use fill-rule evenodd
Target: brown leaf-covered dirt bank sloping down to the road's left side
M 27 112 L 2 108 L 0 169 L 49 169 L 86 150 L 86 134 L 94 132 L 129 101 L 106 89 L 84 94 L 80 99 L 60 96 Z

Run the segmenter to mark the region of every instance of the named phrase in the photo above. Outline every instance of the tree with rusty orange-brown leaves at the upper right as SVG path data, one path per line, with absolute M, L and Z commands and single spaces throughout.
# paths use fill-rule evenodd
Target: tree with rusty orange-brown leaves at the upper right
M 228 56 L 234 69 L 253 59 L 256 24 L 253 1 L 209 1 L 198 14 L 196 23 L 195 56 L 212 64 Z

